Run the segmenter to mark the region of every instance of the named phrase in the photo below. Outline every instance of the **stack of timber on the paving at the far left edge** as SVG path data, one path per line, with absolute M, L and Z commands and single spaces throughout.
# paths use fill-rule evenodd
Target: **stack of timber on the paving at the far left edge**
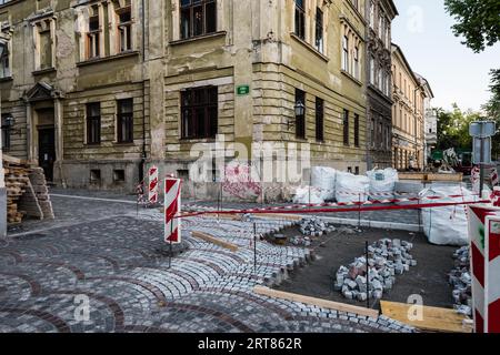
M 7 222 L 19 224 L 24 216 L 53 219 L 46 178 L 41 168 L 3 155 L 7 187 Z

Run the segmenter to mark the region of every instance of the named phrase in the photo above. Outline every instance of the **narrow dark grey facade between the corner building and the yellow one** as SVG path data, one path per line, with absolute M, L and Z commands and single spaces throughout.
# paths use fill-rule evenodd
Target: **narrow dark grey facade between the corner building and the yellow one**
M 367 1 L 368 168 L 392 166 L 392 0 Z

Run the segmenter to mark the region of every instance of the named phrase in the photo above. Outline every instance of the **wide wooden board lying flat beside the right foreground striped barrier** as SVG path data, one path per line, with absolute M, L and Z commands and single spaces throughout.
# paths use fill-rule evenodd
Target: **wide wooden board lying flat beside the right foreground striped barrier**
M 422 331 L 439 333 L 471 333 L 471 328 L 463 327 L 464 315 L 458 314 L 454 310 L 423 307 L 423 321 L 408 320 L 408 312 L 412 305 L 396 302 L 380 302 L 382 314 L 392 320 L 414 326 Z

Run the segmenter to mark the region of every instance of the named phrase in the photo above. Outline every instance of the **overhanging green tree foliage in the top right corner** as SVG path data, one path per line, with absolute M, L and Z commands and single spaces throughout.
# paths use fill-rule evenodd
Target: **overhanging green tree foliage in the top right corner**
M 476 53 L 500 40 L 500 1 L 444 0 L 444 8 L 457 20 L 454 36 L 463 36 L 462 43 Z

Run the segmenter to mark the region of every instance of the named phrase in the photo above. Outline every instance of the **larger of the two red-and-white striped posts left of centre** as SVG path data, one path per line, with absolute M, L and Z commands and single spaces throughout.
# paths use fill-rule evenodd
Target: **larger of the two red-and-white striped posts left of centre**
M 164 180 L 164 241 L 171 244 L 181 242 L 180 219 L 176 217 L 181 211 L 180 179 Z

